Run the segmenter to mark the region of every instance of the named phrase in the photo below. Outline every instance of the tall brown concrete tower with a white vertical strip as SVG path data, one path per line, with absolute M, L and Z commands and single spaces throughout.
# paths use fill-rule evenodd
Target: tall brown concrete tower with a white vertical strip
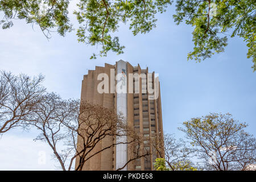
M 108 80 L 105 81 L 110 85 L 109 88 L 104 88 L 104 93 L 98 90 L 98 86 L 103 80 L 100 75 L 102 73 L 108 75 Z M 142 137 L 163 138 L 160 84 L 157 80 L 158 77 L 155 77 L 154 72 L 148 73 L 148 68 L 141 69 L 139 64 L 132 66 L 123 60 L 117 61 L 115 65 L 105 63 L 105 67 L 96 67 L 95 70 L 89 70 L 88 75 L 84 75 L 81 100 L 121 112 L 126 118 L 127 125 L 133 126 L 134 130 Z M 154 93 L 149 88 L 154 88 Z M 156 92 L 156 88 L 159 92 Z M 97 144 L 94 151 L 110 146 L 117 140 L 122 141 L 127 138 L 104 138 L 101 143 Z M 152 146 L 150 146 L 150 150 L 152 150 Z M 133 160 L 123 170 L 153 170 L 157 157 L 156 154 L 152 154 L 146 158 Z M 127 144 L 118 144 L 90 158 L 83 169 L 116 170 L 127 160 L 129 160 Z M 76 161 L 76 166 L 77 163 Z

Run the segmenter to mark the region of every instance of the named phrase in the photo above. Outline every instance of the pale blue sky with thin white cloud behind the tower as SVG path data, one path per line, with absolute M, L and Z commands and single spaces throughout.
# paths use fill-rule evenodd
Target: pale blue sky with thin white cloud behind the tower
M 71 4 L 71 9 L 75 3 Z M 176 26 L 172 19 L 174 7 L 157 15 L 157 27 L 148 34 L 133 36 L 128 26 L 121 24 L 119 36 L 125 53 L 108 53 L 107 57 L 90 60 L 97 47 L 78 43 L 75 32 L 65 38 L 53 34 L 48 41 L 39 28 L 15 21 L 9 30 L 0 29 L 0 69 L 30 76 L 43 73 L 49 92 L 64 98 L 79 98 L 81 80 L 88 69 L 120 59 L 132 65 L 159 73 L 164 131 L 177 130 L 183 121 L 210 112 L 231 113 L 249 124 L 247 131 L 256 134 L 256 73 L 246 58 L 246 43 L 240 38 L 229 39 L 225 52 L 201 63 L 187 61 L 192 50 L 192 28 Z M 75 17 L 71 15 L 72 21 Z M 75 27 L 77 24 L 75 24 Z M 0 169 L 55 169 L 47 144 L 33 142 L 36 131 L 13 130 L 0 139 Z M 38 152 L 46 151 L 47 163 L 38 164 Z M 13 158 L 12 156 L 16 156 Z M 11 160 L 12 159 L 12 160 Z

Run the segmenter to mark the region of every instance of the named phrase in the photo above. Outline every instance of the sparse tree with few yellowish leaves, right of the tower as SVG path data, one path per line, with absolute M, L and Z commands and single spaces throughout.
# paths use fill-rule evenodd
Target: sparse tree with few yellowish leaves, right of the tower
M 207 170 L 246 170 L 256 164 L 256 142 L 246 123 L 231 114 L 210 113 L 183 123 L 191 151 Z

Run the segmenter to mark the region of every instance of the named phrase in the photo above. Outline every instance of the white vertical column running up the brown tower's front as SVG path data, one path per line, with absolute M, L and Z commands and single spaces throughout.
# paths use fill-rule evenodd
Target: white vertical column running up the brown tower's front
M 117 112 L 121 113 L 127 122 L 127 65 L 123 60 L 117 62 Z M 117 137 L 116 142 L 127 142 L 127 137 Z M 127 162 L 127 144 L 117 144 L 115 147 L 115 167 L 123 167 Z M 122 169 L 127 171 L 127 166 Z

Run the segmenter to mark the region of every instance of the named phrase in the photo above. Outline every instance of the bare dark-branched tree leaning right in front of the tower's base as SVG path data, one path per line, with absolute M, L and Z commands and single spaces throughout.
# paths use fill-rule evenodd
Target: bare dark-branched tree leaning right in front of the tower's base
M 127 126 L 122 114 L 117 114 L 114 109 L 106 109 L 100 105 L 82 102 L 80 105 L 79 126 L 75 131 L 80 141 L 76 148 L 77 158 L 79 159 L 76 170 L 82 170 L 87 160 L 118 144 L 128 144 L 131 149 L 129 160 L 123 167 L 118 168 L 118 171 L 125 168 L 133 160 L 150 154 L 150 151 L 142 150 L 143 139 L 141 135 L 137 134 L 133 127 Z M 111 143 L 95 151 L 96 145 L 106 137 L 127 137 L 127 140 Z

